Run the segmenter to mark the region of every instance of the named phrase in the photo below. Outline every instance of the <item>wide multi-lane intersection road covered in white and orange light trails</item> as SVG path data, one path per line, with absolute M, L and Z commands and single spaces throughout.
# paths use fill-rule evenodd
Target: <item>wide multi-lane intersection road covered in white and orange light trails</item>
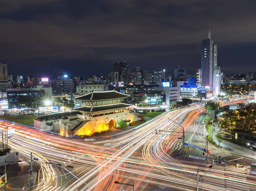
M 196 171 L 200 170 L 200 176 L 203 175 L 212 161 L 192 160 L 180 155 L 182 140 L 172 136 L 178 133 L 155 135 L 152 132 L 155 129 L 181 132 L 182 127 L 176 124 L 179 123 L 185 130 L 185 142 L 204 147 L 201 125 L 204 112 L 203 104 L 193 104 L 165 112 L 134 131 L 94 142 L 59 137 L 8 122 L 0 122 L 0 126 L 12 125 L 16 130 L 9 138 L 9 146 L 27 157 L 32 152 L 33 157 L 39 159 L 38 184 L 33 190 L 132 190 L 114 181 L 133 181 L 134 190 L 140 191 L 195 190 Z M 209 158 L 213 158 L 213 154 L 226 157 L 225 161 L 239 158 L 213 146 L 209 149 Z M 189 149 L 188 153 L 202 156 L 196 149 Z M 65 162 L 74 168 L 61 169 L 45 162 Z M 255 177 L 245 173 L 232 163 L 217 164 L 200 181 L 199 190 L 256 190 Z

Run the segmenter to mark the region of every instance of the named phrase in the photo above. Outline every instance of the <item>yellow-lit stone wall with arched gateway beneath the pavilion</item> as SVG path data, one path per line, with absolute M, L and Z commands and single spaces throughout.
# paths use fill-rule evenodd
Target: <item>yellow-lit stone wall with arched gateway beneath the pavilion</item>
M 74 135 L 91 135 L 95 132 L 107 131 L 108 130 L 108 123 L 111 120 L 115 120 L 116 124 L 122 120 L 131 120 L 139 121 L 141 120 L 137 116 L 133 114 L 129 114 L 129 111 L 124 111 L 115 114 L 109 114 L 105 116 L 93 117 L 91 121 L 88 121 L 84 126 L 82 126 Z

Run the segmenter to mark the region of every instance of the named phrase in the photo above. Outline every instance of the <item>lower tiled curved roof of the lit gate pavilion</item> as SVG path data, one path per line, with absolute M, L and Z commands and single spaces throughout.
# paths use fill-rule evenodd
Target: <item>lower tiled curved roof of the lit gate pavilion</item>
M 100 106 L 92 106 L 92 107 L 83 106 L 83 107 L 74 108 L 74 110 L 85 111 L 85 112 L 95 112 L 95 111 L 103 111 L 103 110 L 109 110 L 109 109 L 125 108 L 128 106 L 130 105 L 125 103 L 117 103 L 117 104 L 100 105 Z

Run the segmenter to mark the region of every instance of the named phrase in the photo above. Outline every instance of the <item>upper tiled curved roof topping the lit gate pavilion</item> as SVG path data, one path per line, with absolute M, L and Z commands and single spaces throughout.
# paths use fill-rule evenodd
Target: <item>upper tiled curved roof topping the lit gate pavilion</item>
M 90 93 L 87 93 L 85 95 L 81 95 L 79 97 L 76 97 L 77 100 L 108 100 L 108 99 L 124 99 L 129 97 L 130 95 L 120 93 L 118 91 L 93 91 Z

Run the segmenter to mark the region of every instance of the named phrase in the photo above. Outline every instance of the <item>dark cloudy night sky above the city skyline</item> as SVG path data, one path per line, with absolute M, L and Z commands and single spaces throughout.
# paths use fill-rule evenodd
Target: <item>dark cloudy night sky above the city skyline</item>
M 218 44 L 224 73 L 256 71 L 256 1 L 0 1 L 0 63 L 9 74 L 107 75 L 127 61 L 142 70 L 201 67 L 201 43 Z

